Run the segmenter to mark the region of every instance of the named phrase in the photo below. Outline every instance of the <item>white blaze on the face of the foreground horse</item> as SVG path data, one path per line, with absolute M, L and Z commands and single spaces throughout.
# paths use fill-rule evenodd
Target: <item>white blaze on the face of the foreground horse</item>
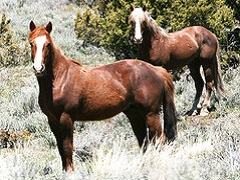
M 33 61 L 34 62 L 33 67 L 36 71 L 40 71 L 42 69 L 42 50 L 46 40 L 47 40 L 46 36 L 39 36 L 35 39 L 37 51 Z

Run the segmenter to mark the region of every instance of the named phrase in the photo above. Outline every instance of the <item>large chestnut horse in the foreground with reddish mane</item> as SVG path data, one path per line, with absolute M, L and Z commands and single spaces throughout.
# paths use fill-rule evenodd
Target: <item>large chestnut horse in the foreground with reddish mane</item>
M 51 30 L 51 22 L 36 27 L 31 21 L 29 42 L 39 105 L 56 137 L 64 170 L 73 170 L 73 123 L 77 120 L 102 120 L 124 112 L 143 150 L 147 135 L 154 142 L 174 139 L 174 85 L 166 70 L 139 60 L 83 67 L 64 56 L 53 43 Z M 161 106 L 164 130 L 159 117 Z

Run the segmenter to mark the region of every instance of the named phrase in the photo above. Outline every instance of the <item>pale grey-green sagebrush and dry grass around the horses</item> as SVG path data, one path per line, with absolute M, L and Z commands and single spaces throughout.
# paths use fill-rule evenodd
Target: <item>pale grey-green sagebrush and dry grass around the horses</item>
M 95 6 L 95 1 L 88 2 Z M 28 43 L 31 20 L 38 25 L 52 21 L 53 40 L 68 57 L 88 66 L 114 61 L 102 48 L 83 48 L 82 40 L 74 36 L 73 19 L 82 10 L 68 0 L 0 2 L 0 12 L 6 16 L 3 22 L 12 31 L 10 39 L 17 40 L 14 44 L 19 47 Z M 178 137 L 159 149 L 151 145 L 145 154 L 139 152 L 123 114 L 106 122 L 86 122 L 84 126 L 75 123 L 75 172 L 68 174 L 61 171 L 56 141 L 39 109 L 38 85 L 31 60 L 26 57 L 27 64 L 0 67 L 1 179 L 240 178 L 239 67 L 226 70 L 223 81 L 227 93 L 219 101 L 213 98 L 215 110 L 207 117 L 184 115 L 195 94 L 194 82 L 186 70 L 174 82 L 176 108 L 182 117 L 178 122 Z

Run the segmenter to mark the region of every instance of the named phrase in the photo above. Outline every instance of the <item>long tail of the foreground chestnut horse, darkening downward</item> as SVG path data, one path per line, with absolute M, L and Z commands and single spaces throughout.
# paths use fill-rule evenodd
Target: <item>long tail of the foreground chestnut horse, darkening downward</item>
M 167 139 L 172 141 L 177 134 L 178 121 L 174 104 L 174 84 L 170 74 L 165 69 L 160 69 L 165 78 L 163 97 L 164 133 L 167 136 Z

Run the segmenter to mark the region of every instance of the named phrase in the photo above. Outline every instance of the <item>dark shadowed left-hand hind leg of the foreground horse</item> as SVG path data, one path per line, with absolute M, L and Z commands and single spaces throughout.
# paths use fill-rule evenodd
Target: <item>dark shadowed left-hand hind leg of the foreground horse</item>
M 143 152 L 147 149 L 147 125 L 146 119 L 137 107 L 130 107 L 124 111 L 124 114 L 128 117 L 131 126 L 133 128 L 133 132 L 137 137 L 138 144 L 143 148 Z

